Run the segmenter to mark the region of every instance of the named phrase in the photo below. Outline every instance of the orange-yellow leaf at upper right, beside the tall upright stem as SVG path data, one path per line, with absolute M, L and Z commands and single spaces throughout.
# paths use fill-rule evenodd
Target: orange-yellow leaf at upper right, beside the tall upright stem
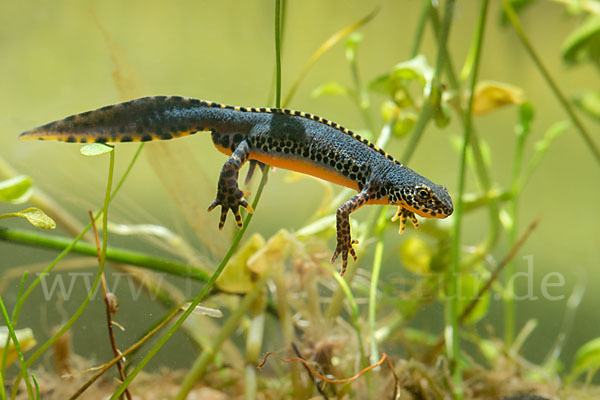
M 481 115 L 497 108 L 521 104 L 525 101 L 523 90 L 508 83 L 481 81 L 473 94 L 473 114 Z

